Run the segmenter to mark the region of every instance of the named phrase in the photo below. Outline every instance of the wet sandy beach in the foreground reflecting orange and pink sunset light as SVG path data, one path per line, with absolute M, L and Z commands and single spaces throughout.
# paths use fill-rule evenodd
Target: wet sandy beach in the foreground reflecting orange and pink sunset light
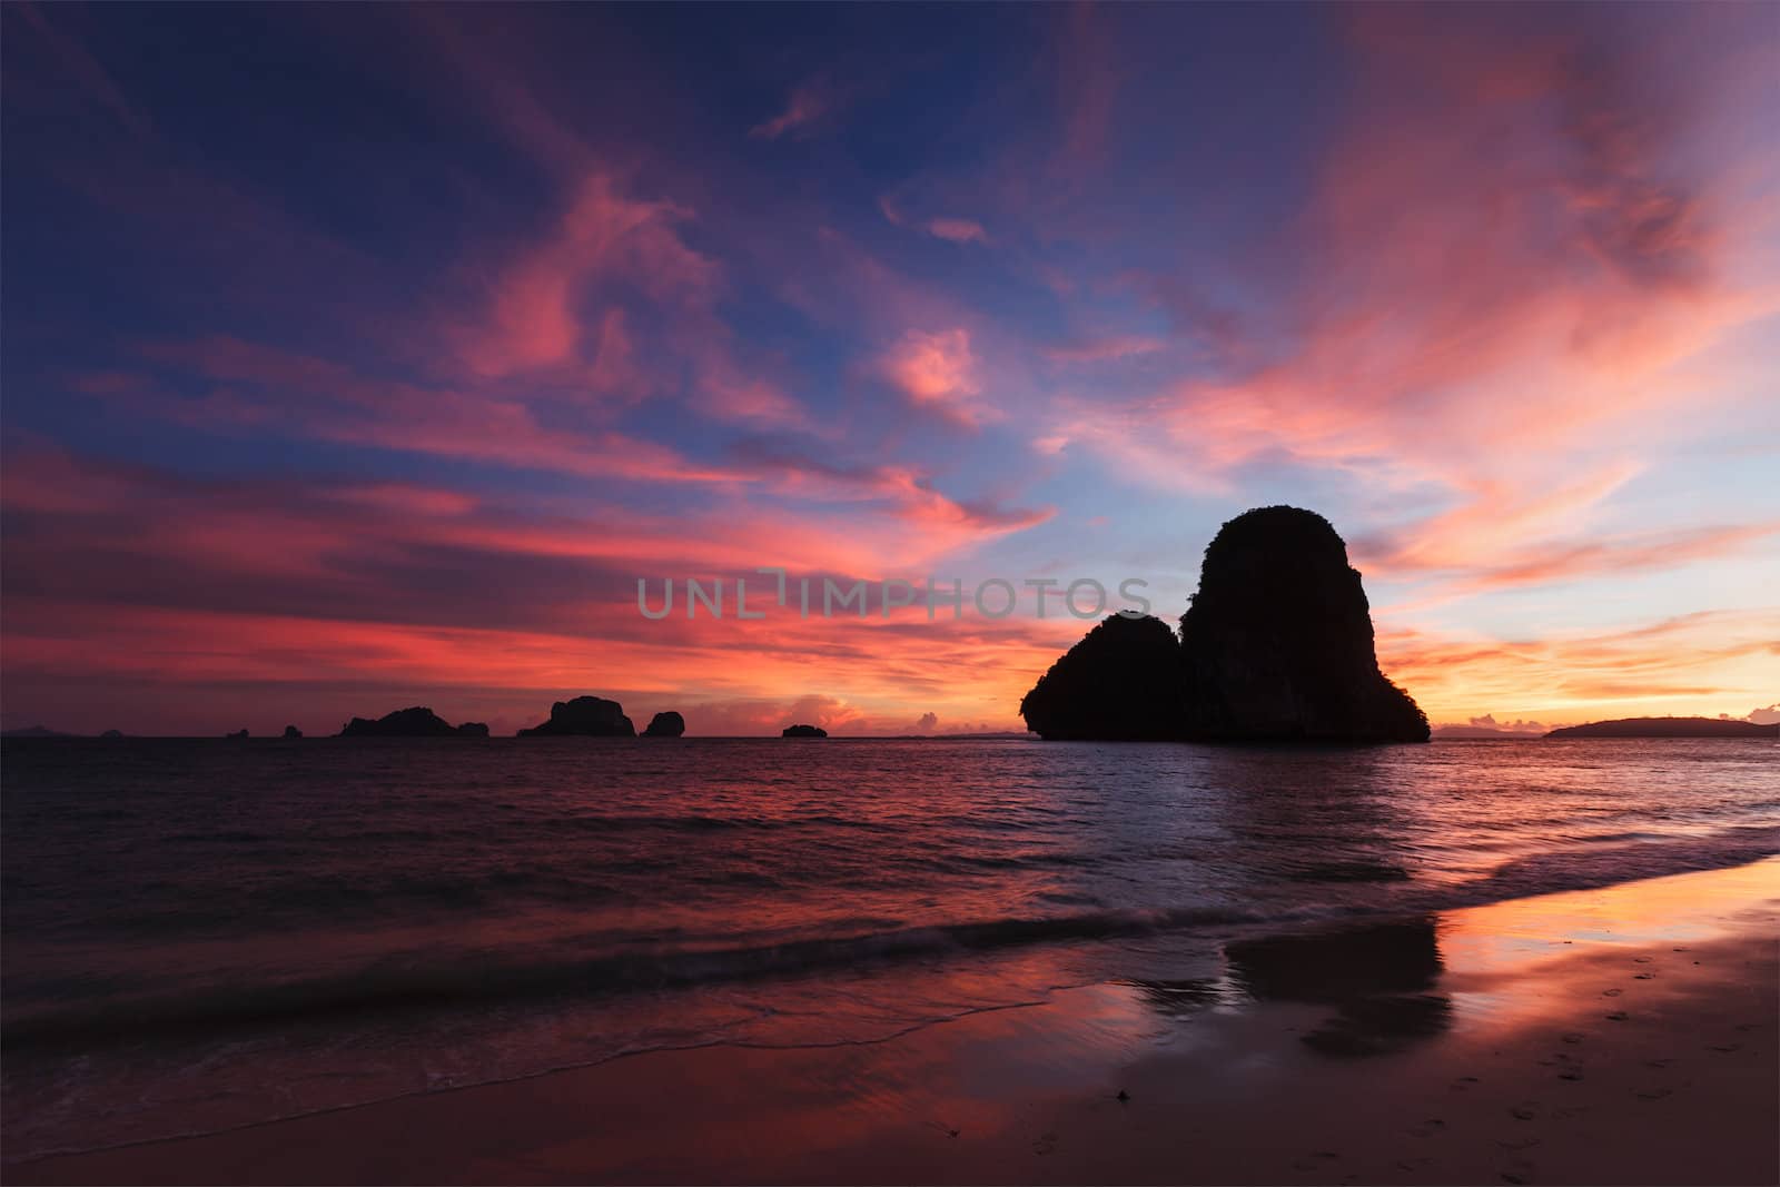
M 869 1045 L 653 1052 L 71 1182 L 1780 1182 L 1780 858 L 1232 945 Z

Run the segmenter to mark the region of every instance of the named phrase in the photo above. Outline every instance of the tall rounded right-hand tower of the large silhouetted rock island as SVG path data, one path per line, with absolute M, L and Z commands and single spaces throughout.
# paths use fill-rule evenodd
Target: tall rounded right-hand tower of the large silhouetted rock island
M 1262 507 L 1223 525 L 1180 619 L 1185 735 L 1426 742 L 1428 717 L 1378 671 L 1360 571 L 1330 521 Z

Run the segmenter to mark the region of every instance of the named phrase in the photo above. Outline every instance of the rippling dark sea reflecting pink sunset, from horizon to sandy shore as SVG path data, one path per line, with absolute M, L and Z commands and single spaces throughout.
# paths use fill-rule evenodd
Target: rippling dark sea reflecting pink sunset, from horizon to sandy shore
M 5 1160 L 1780 852 L 1780 746 L 7 740 Z M 1182 998 L 1184 1000 L 1184 998 Z

